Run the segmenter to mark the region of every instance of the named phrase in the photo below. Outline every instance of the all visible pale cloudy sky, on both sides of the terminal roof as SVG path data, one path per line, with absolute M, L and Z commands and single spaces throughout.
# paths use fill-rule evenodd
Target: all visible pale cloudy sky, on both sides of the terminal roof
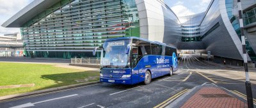
M 6 33 L 20 33 L 19 28 L 5 28 L 1 25 L 19 12 L 33 0 L 0 0 L 0 35 Z M 164 0 L 173 12 L 179 16 L 193 15 L 205 12 L 211 0 Z

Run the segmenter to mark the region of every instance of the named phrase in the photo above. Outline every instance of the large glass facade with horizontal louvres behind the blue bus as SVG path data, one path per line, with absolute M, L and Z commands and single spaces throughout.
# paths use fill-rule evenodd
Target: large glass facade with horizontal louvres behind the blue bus
M 20 29 L 27 56 L 70 59 L 108 38 L 140 36 L 140 20 L 135 0 L 61 0 Z

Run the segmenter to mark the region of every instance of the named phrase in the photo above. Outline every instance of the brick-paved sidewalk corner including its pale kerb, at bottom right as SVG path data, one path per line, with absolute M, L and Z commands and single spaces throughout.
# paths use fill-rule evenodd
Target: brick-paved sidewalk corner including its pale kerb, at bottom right
M 247 107 L 246 100 L 218 86 L 199 86 L 180 96 L 166 107 L 229 108 Z

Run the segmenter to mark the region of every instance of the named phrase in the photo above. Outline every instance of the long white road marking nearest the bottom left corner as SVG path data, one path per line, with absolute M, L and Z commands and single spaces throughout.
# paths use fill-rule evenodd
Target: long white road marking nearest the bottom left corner
M 60 98 L 68 98 L 70 96 L 76 96 L 77 94 L 74 94 L 74 95 L 68 95 L 68 96 L 61 96 Z M 35 103 L 27 103 L 27 104 L 22 104 L 22 105 L 17 105 L 17 106 L 14 106 L 14 107 L 11 107 L 11 108 L 23 108 L 23 107 L 32 107 L 34 106 L 35 104 L 39 104 L 39 103 L 42 103 L 42 102 L 48 102 L 48 101 L 51 101 L 51 100 L 58 100 L 60 98 L 52 98 L 52 99 L 49 99 L 49 100 L 44 100 L 44 101 L 40 101 L 40 102 L 35 102 Z

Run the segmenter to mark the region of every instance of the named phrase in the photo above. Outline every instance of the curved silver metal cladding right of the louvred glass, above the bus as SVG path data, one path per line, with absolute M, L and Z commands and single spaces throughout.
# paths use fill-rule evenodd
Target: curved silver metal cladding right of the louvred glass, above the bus
M 158 0 L 136 1 L 140 16 L 140 36 L 177 47 L 180 22 L 166 4 Z

